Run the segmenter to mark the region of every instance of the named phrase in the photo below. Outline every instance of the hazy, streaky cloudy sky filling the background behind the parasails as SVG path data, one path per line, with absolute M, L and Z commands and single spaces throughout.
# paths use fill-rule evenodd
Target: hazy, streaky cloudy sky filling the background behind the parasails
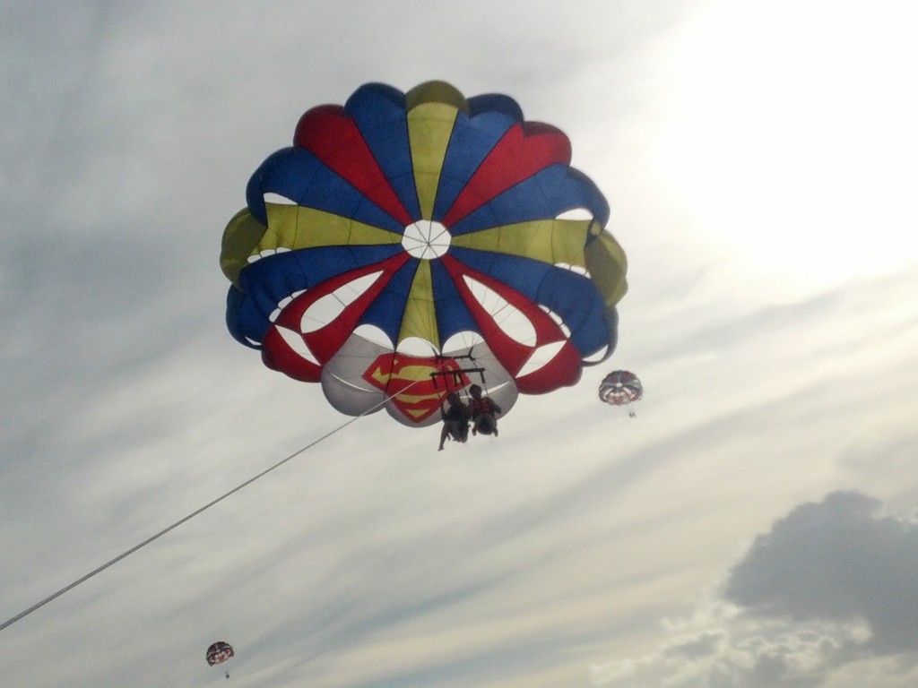
M 918 682 L 908 0 L 0 4 L 0 622 L 348 420 L 229 337 L 308 108 L 509 94 L 628 255 L 499 438 L 359 419 L 0 630 L 31 688 Z M 599 380 L 644 382 L 636 417 Z

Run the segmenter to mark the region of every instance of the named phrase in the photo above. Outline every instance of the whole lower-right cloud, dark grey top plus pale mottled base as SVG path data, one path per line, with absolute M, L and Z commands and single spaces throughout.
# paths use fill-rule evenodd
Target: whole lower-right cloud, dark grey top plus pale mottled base
M 839 492 L 778 519 L 719 597 L 668 620 L 666 641 L 593 667 L 603 688 L 905 686 L 918 677 L 918 529 Z

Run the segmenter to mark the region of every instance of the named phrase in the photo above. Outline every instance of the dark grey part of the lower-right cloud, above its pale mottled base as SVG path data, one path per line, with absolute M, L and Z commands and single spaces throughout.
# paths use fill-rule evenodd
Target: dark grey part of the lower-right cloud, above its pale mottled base
M 879 506 L 854 492 L 798 506 L 756 538 L 724 596 L 758 615 L 861 620 L 879 654 L 918 649 L 918 528 Z

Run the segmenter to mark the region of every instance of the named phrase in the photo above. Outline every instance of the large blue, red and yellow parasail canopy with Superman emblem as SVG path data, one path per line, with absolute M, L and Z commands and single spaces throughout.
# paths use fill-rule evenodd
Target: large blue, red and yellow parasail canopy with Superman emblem
M 570 142 L 509 96 L 381 83 L 300 118 L 223 235 L 227 325 L 360 416 L 577 383 L 615 348 L 626 260 Z M 384 404 L 385 402 L 385 404 Z

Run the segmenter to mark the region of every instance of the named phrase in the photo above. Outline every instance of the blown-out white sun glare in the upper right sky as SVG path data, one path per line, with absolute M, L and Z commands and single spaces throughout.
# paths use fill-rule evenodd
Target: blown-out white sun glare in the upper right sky
M 659 161 L 750 269 L 813 287 L 918 258 L 918 50 L 892 2 L 711 6 Z

